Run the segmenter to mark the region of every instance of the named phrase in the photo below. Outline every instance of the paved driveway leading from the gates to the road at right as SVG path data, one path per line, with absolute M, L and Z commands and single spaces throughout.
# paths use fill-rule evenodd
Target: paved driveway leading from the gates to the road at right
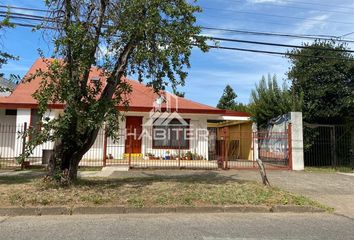
M 230 171 L 223 175 L 260 181 L 256 171 Z M 268 171 L 267 175 L 273 186 L 308 196 L 333 207 L 338 214 L 354 218 L 354 175 L 352 174 Z

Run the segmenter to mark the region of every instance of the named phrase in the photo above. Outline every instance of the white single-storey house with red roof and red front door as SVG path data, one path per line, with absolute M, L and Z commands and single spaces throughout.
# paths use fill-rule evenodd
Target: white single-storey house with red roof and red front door
M 27 76 L 45 68 L 45 62 L 37 59 Z M 100 70 L 94 67 L 90 79 L 105 81 Z M 21 82 L 11 95 L 0 97 L 0 158 L 13 159 L 21 153 L 26 139 L 21 138 L 19 132 L 25 125 L 35 126 L 42 118 L 53 119 L 63 111 L 63 104 L 51 104 L 45 116 L 38 115 L 36 110 L 38 105 L 32 94 L 39 87 L 40 81 L 41 79 L 37 77 L 31 82 Z M 129 110 L 124 112 L 125 119 L 120 121 L 121 138 L 115 142 L 107 138 L 101 130 L 95 144 L 83 158 L 91 165 L 117 163 L 128 158 L 129 161 L 132 159 L 180 161 L 191 158 L 190 155 L 193 155 L 193 159 L 214 161 L 216 157 L 211 153 L 216 150 L 211 148 L 215 148 L 215 144 L 212 143 L 213 139 L 209 132 L 218 128 L 215 124 L 233 121 L 238 124 L 247 123 L 249 126 L 250 119 L 247 113 L 217 109 L 167 91 L 159 96 L 150 87 L 138 81 L 129 79 L 125 81 L 132 86 L 132 92 L 127 96 L 130 102 Z M 117 107 L 124 111 L 122 106 Z M 7 128 L 9 130 L 5 130 Z M 161 133 L 168 133 L 168 137 L 161 137 Z M 249 141 L 251 142 L 251 139 Z M 39 161 L 43 150 L 52 148 L 53 143 L 50 142 L 40 145 L 30 157 L 33 162 Z M 244 151 L 245 153 L 242 152 L 239 157 L 245 156 L 249 159 L 252 153 Z

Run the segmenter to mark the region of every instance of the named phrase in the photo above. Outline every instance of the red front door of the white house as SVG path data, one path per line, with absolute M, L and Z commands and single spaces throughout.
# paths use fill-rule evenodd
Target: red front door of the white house
M 125 140 L 125 153 L 141 153 L 141 138 L 143 117 L 127 116 L 127 137 Z

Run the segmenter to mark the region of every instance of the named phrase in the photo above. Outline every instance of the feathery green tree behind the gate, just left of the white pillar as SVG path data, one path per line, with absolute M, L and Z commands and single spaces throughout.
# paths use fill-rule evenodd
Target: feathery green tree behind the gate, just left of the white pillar
M 301 98 L 296 98 L 284 83 L 278 85 L 274 75 L 268 79 L 262 76 L 261 81 L 251 93 L 249 111 L 259 127 L 264 127 L 271 118 L 301 109 Z

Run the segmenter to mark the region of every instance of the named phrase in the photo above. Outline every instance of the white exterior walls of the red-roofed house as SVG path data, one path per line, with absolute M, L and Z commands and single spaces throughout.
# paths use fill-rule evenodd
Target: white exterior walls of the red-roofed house
M 53 119 L 59 115 L 61 110 L 51 110 L 47 111 L 43 118 L 49 117 Z M 143 123 L 145 123 L 149 115 L 148 113 L 133 113 L 130 112 L 127 115 L 130 116 L 142 116 Z M 208 139 L 207 139 L 207 116 L 200 116 L 197 114 L 181 114 L 184 119 L 190 119 L 190 129 L 194 133 L 194 136 L 190 140 L 190 148 L 181 150 L 181 154 L 191 151 L 198 155 L 202 155 L 205 159 L 208 158 Z M 6 143 L 1 141 L 0 138 L 0 153 L 6 152 L 7 155 L 11 157 L 17 157 L 22 153 L 22 138 L 17 132 L 23 130 L 23 125 L 27 123 L 27 127 L 31 120 L 31 110 L 30 109 L 18 109 L 17 116 L 5 116 L 5 110 L 0 110 L 0 125 L 5 123 L 11 123 L 16 125 L 16 131 L 12 131 L 12 134 L 7 134 L 6 136 L 2 133 L 1 138 L 6 139 Z M 107 139 L 107 156 L 112 155 L 114 159 L 123 159 L 125 152 L 125 120 L 120 121 L 120 138 L 118 141 L 114 142 L 112 139 Z M 150 129 L 149 129 L 150 128 Z M 144 127 L 143 131 L 151 131 L 151 127 Z M 33 154 L 30 157 L 41 158 L 42 151 L 44 149 L 52 149 L 54 143 L 47 142 L 40 146 L 37 146 Z M 83 159 L 86 160 L 103 160 L 104 153 L 104 132 L 100 130 L 98 137 L 92 146 L 92 148 L 84 155 Z M 154 154 L 155 156 L 165 156 L 168 149 L 154 149 L 152 147 L 152 138 L 144 134 L 142 137 L 142 149 L 141 153 L 143 155 L 147 153 Z M 170 154 L 178 155 L 178 150 L 169 150 Z M 39 160 L 39 159 L 38 159 Z

